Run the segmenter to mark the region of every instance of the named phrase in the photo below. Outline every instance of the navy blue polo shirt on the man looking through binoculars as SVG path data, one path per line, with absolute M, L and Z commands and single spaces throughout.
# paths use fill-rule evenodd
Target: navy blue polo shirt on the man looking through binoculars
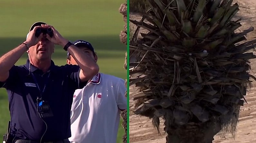
M 0 82 L 0 87 L 4 87 L 8 93 L 11 135 L 16 136 L 15 139 L 40 141 L 46 130 L 43 141 L 58 141 L 71 137 L 70 111 L 73 93 L 86 84 L 80 83 L 80 67 L 56 66 L 51 61 L 51 67 L 46 73 L 32 64 L 30 71 L 36 77 L 41 91 L 50 74 L 42 99 L 49 102 L 53 116 L 43 118 L 47 124 L 46 130 L 46 125 L 37 111 L 36 98 L 40 96 L 40 92 L 29 74 L 29 61 L 22 66 L 13 66 L 6 82 Z

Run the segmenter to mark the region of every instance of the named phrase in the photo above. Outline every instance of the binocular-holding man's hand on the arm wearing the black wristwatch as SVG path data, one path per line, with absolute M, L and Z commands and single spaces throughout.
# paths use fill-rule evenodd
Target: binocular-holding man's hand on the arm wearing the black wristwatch
M 61 36 L 61 34 L 51 25 L 42 24 L 43 28 L 52 28 L 52 37 L 46 34 L 46 38 L 54 44 L 61 45 L 64 47 L 69 41 Z

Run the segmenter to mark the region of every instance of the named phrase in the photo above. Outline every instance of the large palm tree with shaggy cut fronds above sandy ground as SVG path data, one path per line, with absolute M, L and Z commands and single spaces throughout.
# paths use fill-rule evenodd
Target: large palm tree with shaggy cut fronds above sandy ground
M 129 44 L 129 86 L 139 92 L 137 115 L 152 118 L 166 143 L 211 143 L 219 132 L 234 133 L 251 81 L 249 60 L 256 40 L 242 42 L 254 28 L 237 32 L 232 0 L 148 0 L 150 9 Z M 139 28 L 149 32 L 141 33 Z

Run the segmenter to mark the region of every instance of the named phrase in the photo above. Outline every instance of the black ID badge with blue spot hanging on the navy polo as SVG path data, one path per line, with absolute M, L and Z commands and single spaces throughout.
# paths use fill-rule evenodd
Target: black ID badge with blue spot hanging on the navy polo
M 37 102 L 37 109 L 39 112 L 39 115 L 41 118 L 47 118 L 47 117 L 52 117 L 52 110 L 50 108 L 50 105 L 47 101 L 44 100 L 39 100 Z

